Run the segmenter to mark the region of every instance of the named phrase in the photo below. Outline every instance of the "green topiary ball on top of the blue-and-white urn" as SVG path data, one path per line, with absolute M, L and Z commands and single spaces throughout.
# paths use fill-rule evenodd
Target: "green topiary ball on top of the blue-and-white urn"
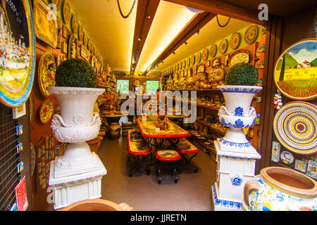
M 225 84 L 254 86 L 258 82 L 259 73 L 249 63 L 237 63 L 225 73 Z

